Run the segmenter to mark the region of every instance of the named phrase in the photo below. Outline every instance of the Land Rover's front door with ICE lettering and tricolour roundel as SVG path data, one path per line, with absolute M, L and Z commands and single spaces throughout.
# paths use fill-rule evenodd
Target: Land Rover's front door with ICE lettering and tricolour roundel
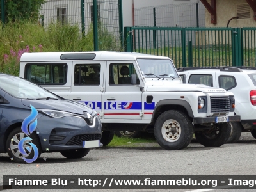
M 106 66 L 104 119 L 141 119 L 143 82 L 135 61 L 107 61 Z M 136 84 L 131 84 L 131 74 L 136 74 Z

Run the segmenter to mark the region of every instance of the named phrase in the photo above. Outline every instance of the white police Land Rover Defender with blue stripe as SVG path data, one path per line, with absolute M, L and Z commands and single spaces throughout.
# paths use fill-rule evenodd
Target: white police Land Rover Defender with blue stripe
M 235 97 L 222 88 L 183 84 L 172 60 L 132 52 L 24 53 L 20 77 L 95 109 L 104 145 L 113 131 L 154 131 L 166 150 L 205 147 L 230 136 Z M 51 99 L 51 98 L 49 98 Z

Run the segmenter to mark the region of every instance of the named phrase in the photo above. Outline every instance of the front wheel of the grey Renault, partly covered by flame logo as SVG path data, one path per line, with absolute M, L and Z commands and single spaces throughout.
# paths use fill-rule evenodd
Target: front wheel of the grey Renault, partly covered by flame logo
M 28 155 L 23 155 L 18 148 L 18 143 L 20 140 L 26 137 L 29 137 L 32 140 L 24 141 L 23 148 Z M 36 145 L 38 149 L 38 157 L 40 157 L 41 145 L 35 133 L 32 133 L 28 136 L 21 131 L 21 127 L 17 127 L 16 129 L 13 129 L 13 131 L 10 132 L 10 134 L 8 135 L 8 138 L 6 141 L 6 149 L 7 149 L 8 155 L 15 163 L 26 163 L 26 161 L 24 161 L 22 157 L 25 157 L 26 159 L 32 159 L 34 157 L 35 151 L 33 150 L 33 147 L 28 143 L 33 143 Z M 30 148 L 30 152 L 27 149 L 27 147 Z

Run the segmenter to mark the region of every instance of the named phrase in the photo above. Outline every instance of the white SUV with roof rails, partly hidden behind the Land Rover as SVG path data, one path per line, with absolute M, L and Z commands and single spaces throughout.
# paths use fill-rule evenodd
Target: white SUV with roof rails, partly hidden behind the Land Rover
M 182 67 L 177 71 L 183 83 L 205 84 L 234 93 L 235 113 L 241 116 L 241 122 L 232 122 L 228 143 L 239 140 L 242 131 L 256 138 L 256 67 Z

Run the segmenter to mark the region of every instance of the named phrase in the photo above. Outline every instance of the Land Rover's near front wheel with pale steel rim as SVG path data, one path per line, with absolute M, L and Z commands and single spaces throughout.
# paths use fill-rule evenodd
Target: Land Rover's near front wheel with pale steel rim
M 165 111 L 156 120 L 154 134 L 157 143 L 165 150 L 180 150 L 191 142 L 193 125 L 184 113 Z

